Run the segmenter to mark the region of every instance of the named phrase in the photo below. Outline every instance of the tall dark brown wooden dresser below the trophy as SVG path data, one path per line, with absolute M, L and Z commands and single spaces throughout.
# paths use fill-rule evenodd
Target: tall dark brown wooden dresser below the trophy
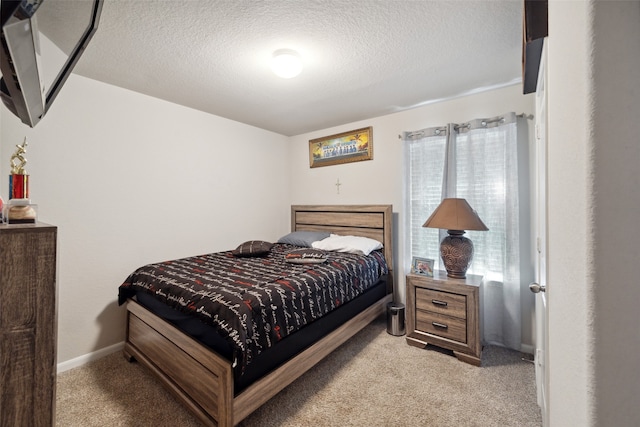
M 2 427 L 55 424 L 56 241 L 51 225 L 0 225 Z

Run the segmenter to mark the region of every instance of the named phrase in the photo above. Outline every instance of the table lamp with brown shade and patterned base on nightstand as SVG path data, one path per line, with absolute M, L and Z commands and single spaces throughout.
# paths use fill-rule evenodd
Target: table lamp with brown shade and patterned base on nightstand
M 465 199 L 444 199 L 422 225 L 447 230 L 440 242 L 440 256 L 447 276 L 464 279 L 473 259 L 473 243 L 463 236 L 464 230 L 489 230 Z

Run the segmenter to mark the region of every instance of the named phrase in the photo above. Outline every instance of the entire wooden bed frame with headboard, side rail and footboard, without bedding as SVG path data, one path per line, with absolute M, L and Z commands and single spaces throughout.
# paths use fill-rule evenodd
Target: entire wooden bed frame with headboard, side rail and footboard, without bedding
M 234 396 L 231 363 L 160 319 L 127 302 L 124 355 L 151 370 L 205 425 L 234 426 L 311 369 L 386 310 L 393 299 L 391 205 L 291 207 L 292 231 L 331 231 L 383 242 L 389 265 L 387 295 Z

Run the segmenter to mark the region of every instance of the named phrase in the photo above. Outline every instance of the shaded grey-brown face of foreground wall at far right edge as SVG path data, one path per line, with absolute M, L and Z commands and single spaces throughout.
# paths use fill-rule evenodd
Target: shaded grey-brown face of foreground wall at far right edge
M 593 16 L 594 424 L 639 425 L 640 2 Z

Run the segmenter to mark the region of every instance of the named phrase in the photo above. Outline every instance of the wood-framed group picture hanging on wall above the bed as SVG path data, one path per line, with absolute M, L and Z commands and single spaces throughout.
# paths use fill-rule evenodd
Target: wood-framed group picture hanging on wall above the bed
M 373 159 L 373 127 L 309 140 L 309 166 L 331 166 Z

